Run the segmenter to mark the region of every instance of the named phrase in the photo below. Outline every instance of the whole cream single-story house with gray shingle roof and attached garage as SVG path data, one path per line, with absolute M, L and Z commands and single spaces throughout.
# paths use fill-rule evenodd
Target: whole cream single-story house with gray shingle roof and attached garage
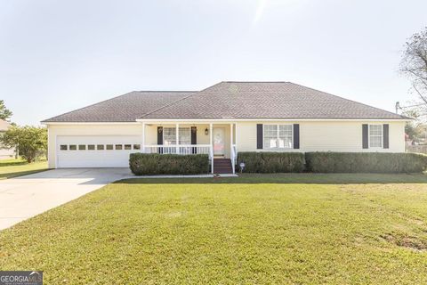
M 134 91 L 42 123 L 49 167 L 128 167 L 132 152 L 206 153 L 212 166 L 225 161 L 234 171 L 239 151 L 404 152 L 408 119 L 290 82 L 221 82 Z

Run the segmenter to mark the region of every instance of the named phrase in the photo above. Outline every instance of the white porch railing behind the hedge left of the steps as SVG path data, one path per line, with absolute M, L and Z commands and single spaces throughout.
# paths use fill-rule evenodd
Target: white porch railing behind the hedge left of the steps
M 209 154 L 211 157 L 211 146 L 209 144 L 150 144 L 144 147 L 145 153 Z

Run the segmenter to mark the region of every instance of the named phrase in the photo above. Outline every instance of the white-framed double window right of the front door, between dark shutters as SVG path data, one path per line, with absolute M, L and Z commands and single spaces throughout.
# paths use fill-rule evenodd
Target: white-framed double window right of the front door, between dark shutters
M 264 125 L 264 149 L 292 149 L 292 125 Z

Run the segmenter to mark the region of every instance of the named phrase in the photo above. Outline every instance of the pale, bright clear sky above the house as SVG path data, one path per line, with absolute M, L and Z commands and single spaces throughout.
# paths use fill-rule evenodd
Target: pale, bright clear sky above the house
M 0 100 L 39 125 L 133 90 L 291 81 L 394 111 L 410 102 L 416 0 L 0 0 Z M 120 110 L 117 110 L 120 111 Z

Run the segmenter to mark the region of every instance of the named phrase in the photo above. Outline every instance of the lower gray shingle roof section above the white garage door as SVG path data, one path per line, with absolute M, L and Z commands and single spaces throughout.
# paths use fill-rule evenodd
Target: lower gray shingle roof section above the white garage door
M 133 91 L 82 109 L 48 118 L 49 122 L 135 122 L 136 118 L 185 98 L 194 91 Z

